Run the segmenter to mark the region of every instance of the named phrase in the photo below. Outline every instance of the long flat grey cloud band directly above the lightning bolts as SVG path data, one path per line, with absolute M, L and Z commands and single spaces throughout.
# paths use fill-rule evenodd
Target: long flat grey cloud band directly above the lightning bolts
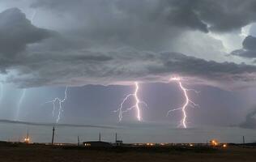
M 164 80 L 165 76 L 178 74 L 211 82 L 228 82 L 231 86 L 232 83 L 254 82 L 256 74 L 256 66 L 207 62 L 181 53 L 120 49 L 108 53 L 87 51 L 84 54 L 87 56 L 71 56 L 69 53 L 54 53 L 51 56 L 46 53 L 45 57 L 41 53 L 33 53 L 32 56 L 18 58 L 11 62 L 11 66 L 19 67 L 19 74 L 8 78 L 8 82 L 22 87 L 112 84 L 134 80 L 166 82 L 168 79 Z

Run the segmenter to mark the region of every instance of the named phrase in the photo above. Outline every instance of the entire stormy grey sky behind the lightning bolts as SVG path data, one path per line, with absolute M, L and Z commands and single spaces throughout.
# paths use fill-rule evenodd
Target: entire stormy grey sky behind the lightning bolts
M 254 130 L 255 22 L 254 0 L 0 0 L 0 119 L 54 123 L 68 87 L 59 123 L 176 128 L 180 76 L 199 92 L 190 128 Z M 135 81 L 143 122 L 120 123 Z

